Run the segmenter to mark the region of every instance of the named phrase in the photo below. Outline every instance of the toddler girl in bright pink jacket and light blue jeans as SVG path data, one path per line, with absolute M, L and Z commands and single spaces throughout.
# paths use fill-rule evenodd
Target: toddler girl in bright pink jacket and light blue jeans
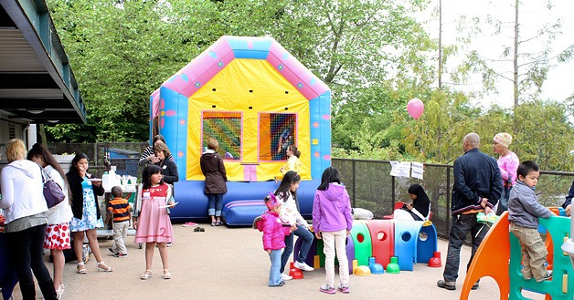
M 269 286 L 282 286 L 285 282 L 280 272 L 281 254 L 282 249 L 285 247 L 285 235 L 291 234 L 291 229 L 283 226 L 279 219 L 282 202 L 277 200 L 274 194 L 270 193 L 265 198 L 265 204 L 269 211 L 263 212 L 260 222 L 263 222 L 263 249 L 269 254 L 271 260 Z

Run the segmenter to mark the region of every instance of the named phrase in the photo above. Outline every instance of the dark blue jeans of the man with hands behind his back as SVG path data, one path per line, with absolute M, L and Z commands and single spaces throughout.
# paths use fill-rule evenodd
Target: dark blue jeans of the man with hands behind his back
M 488 232 L 488 227 L 476 221 L 476 213 L 457 214 L 452 216 L 451 233 L 449 234 L 449 250 L 444 265 L 445 282 L 456 282 L 459 276 L 459 264 L 461 263 L 461 247 L 466 239 L 466 234 L 471 233 L 473 250 L 471 259 L 466 265 L 466 269 L 473 262 L 474 253 L 483 242 L 484 235 Z

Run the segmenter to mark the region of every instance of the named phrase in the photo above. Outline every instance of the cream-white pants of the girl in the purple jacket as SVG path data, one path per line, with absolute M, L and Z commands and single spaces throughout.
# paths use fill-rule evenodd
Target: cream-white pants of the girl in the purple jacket
M 325 284 L 335 286 L 335 251 L 339 260 L 339 281 L 349 284 L 349 262 L 346 258 L 346 229 L 338 232 L 322 232 Z

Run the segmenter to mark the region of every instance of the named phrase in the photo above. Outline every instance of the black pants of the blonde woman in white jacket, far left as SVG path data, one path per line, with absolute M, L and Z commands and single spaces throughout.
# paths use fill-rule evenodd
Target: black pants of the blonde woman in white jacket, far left
M 22 298 L 34 299 L 36 297 L 36 285 L 40 286 L 45 299 L 56 299 L 56 291 L 52 278 L 44 264 L 44 237 L 46 236 L 46 224 L 30 227 L 16 233 L 6 233 L 10 244 L 10 256 L 16 267 L 16 274 L 20 282 Z M 31 271 L 30 271 L 31 269 Z

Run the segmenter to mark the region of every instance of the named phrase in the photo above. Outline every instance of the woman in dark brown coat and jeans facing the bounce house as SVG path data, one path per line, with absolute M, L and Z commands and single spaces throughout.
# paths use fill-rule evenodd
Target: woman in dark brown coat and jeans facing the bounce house
M 221 210 L 223 209 L 223 194 L 228 192 L 227 172 L 221 155 L 217 152 L 218 140 L 209 138 L 207 140 L 207 150 L 199 159 L 201 172 L 206 177 L 206 188 L 208 205 L 207 214 L 211 218 L 211 226 L 221 226 Z

